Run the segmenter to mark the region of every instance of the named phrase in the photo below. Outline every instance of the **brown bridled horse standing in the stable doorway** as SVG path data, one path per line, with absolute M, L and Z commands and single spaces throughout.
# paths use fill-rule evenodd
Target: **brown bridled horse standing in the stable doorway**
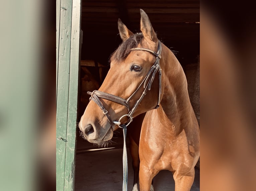
M 150 190 L 160 170 L 172 172 L 175 191 L 188 191 L 200 155 L 200 131 L 186 77 L 142 9 L 140 16 L 141 33 L 133 34 L 118 20 L 123 42 L 111 55 L 102 86 L 89 93 L 91 101 L 79 128 L 89 142 L 102 144 L 112 138 L 113 131 L 145 113 L 139 140 L 131 144 L 139 145 L 135 151 L 139 152 L 140 191 Z

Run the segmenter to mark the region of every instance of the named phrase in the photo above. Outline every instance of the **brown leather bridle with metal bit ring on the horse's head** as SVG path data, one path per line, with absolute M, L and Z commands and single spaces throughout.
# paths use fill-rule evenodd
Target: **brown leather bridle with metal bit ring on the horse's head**
M 101 91 L 98 91 L 98 90 L 95 90 L 93 92 L 87 92 L 87 94 L 91 95 L 90 100 L 93 100 L 102 109 L 103 113 L 106 115 L 106 117 L 107 117 L 108 121 L 110 122 L 113 129 L 114 129 L 115 125 L 118 125 L 119 127 L 122 128 L 123 124 L 121 125 L 120 121 L 125 116 L 127 116 L 129 118 L 129 121 L 127 123 L 125 123 L 126 126 L 128 126 L 132 122 L 132 119 L 133 119 L 132 115 L 133 115 L 134 111 L 136 110 L 136 108 L 138 107 L 138 105 L 140 104 L 143 97 L 146 95 L 147 90 L 151 89 L 151 85 L 154 81 L 156 72 L 159 73 L 159 94 L 158 94 L 158 102 L 157 102 L 157 105 L 156 105 L 155 109 L 157 109 L 159 107 L 159 103 L 160 103 L 160 95 L 162 93 L 162 91 L 161 91 L 161 76 L 162 76 L 162 71 L 161 70 L 162 69 L 160 69 L 160 65 L 159 65 L 159 61 L 161 59 L 160 54 L 161 54 L 161 51 L 162 51 L 161 42 L 158 41 L 157 53 L 150 50 L 150 49 L 145 49 L 145 48 L 133 48 L 133 49 L 130 49 L 130 51 L 146 51 L 146 52 L 149 52 L 149 53 L 156 56 L 156 61 L 153 64 L 153 66 L 151 67 L 151 69 L 149 70 L 146 77 L 143 79 L 143 81 L 139 85 L 139 87 L 137 88 L 137 90 L 135 90 L 135 92 L 128 99 L 123 99 L 122 97 L 112 95 L 112 94 L 108 94 L 108 93 L 105 93 L 105 92 L 101 92 Z M 135 102 L 132 109 L 130 110 L 129 101 L 139 91 L 139 89 L 142 85 L 143 85 L 144 91 L 143 91 L 142 95 L 140 96 L 140 98 Z M 104 107 L 103 103 L 100 101 L 99 97 L 102 98 L 102 99 L 107 99 L 107 100 L 110 100 L 110 101 L 113 101 L 113 102 L 116 102 L 118 104 L 126 106 L 126 108 L 128 110 L 128 114 L 125 114 L 125 115 L 121 116 L 118 121 L 112 120 L 108 111 Z

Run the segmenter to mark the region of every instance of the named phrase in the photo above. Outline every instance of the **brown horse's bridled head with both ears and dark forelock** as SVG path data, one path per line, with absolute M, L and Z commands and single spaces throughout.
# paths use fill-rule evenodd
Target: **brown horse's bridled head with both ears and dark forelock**
M 147 14 L 143 10 L 140 14 L 141 33 L 133 34 L 118 20 L 123 42 L 111 56 L 110 70 L 99 91 L 90 93 L 91 101 L 79 122 L 89 142 L 110 140 L 121 124 L 160 102 L 161 43 Z

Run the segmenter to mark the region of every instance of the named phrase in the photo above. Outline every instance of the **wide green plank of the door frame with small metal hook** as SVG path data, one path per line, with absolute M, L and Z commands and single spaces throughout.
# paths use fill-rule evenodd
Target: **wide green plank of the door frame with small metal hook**
M 64 190 L 72 1 L 61 0 L 56 100 L 56 190 Z M 62 139 L 59 139 L 59 138 Z

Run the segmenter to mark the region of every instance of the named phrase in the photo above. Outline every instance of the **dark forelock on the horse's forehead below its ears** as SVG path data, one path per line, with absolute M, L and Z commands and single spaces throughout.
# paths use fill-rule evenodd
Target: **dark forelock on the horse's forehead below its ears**
M 110 62 L 114 60 L 117 62 L 124 61 L 129 55 L 130 49 L 138 47 L 142 38 L 142 33 L 136 33 L 130 36 L 130 38 L 120 44 L 116 51 L 112 54 Z

